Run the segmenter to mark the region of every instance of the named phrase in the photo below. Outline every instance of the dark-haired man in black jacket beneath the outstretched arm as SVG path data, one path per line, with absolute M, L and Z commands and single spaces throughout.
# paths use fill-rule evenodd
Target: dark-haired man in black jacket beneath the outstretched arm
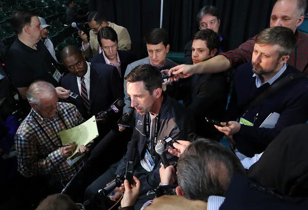
M 191 59 L 194 64 L 214 57 L 219 49 L 220 40 L 211 29 L 198 31 L 192 38 Z M 225 111 L 228 85 L 224 73 L 195 74 L 183 79 L 178 91 L 178 99 L 191 111 L 196 120 L 198 135 L 219 140 L 221 134 L 205 117 L 221 119 Z

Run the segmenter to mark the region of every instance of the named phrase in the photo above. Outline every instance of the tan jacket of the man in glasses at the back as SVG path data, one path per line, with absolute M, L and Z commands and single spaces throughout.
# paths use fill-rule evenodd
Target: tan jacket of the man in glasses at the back
M 118 26 L 114 23 L 110 23 L 110 27 L 114 29 L 114 31 L 118 35 L 118 47 L 119 50 L 130 50 L 131 40 L 129 33 L 126 28 L 122 26 Z M 90 46 L 84 51 L 87 58 L 91 58 L 95 55 L 99 54 L 99 41 L 98 35 L 96 35 L 92 30 L 90 30 Z

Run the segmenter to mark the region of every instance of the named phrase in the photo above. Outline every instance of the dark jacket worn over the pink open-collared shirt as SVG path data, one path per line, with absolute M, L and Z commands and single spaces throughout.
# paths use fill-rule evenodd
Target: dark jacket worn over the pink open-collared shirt
M 130 51 L 124 51 L 124 50 L 118 50 L 120 62 L 121 62 L 121 78 L 123 80 L 125 70 L 127 68 L 127 65 L 131 64 L 133 61 L 136 60 L 136 56 L 130 52 Z M 98 55 L 95 55 L 90 59 L 91 63 L 99 62 L 101 64 L 106 64 L 106 61 L 104 59 L 103 52 L 101 52 Z

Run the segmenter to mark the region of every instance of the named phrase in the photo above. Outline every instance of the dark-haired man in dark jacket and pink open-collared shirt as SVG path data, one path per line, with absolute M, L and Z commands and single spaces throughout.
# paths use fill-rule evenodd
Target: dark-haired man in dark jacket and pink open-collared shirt
M 130 51 L 119 50 L 118 35 L 109 26 L 101 28 L 98 32 L 98 41 L 102 52 L 90 59 L 91 63 L 99 62 L 117 67 L 119 74 L 124 78 L 127 65 L 136 60 L 136 56 Z

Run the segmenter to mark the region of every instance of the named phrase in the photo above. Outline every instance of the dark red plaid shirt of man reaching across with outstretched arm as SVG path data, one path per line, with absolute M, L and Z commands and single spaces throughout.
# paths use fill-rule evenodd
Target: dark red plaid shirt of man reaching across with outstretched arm
M 235 50 L 220 54 L 229 59 L 233 69 L 245 62 L 251 62 L 256 37 L 249 38 Z M 296 31 L 295 38 L 296 48 L 292 51 L 287 64 L 308 74 L 308 34 Z

